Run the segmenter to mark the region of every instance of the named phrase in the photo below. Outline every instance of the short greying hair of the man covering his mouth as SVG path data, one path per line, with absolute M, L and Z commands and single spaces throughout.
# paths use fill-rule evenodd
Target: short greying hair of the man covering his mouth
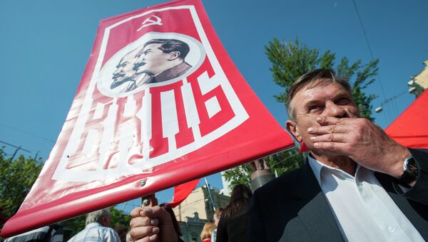
M 295 97 L 297 92 L 302 90 L 305 86 L 308 86 L 310 89 L 320 84 L 335 83 L 340 84 L 340 86 L 344 87 L 346 91 L 349 91 L 350 94 L 352 94 L 351 85 L 345 79 L 340 79 L 335 75 L 335 71 L 332 69 L 316 69 L 307 72 L 307 74 L 304 74 L 303 76 L 300 76 L 300 78 L 290 86 L 290 89 L 288 89 L 287 99 L 285 100 L 285 107 L 287 108 L 288 118 L 292 121 L 295 121 L 296 114 L 294 106 L 292 105 L 292 99 Z M 327 81 L 325 81 L 326 79 Z

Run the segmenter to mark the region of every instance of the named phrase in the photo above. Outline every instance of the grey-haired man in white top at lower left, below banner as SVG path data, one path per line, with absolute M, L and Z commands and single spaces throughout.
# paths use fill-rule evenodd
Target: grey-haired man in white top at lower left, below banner
M 110 222 L 111 215 L 108 208 L 88 213 L 88 216 L 86 216 L 86 227 L 83 231 L 73 236 L 69 242 L 121 242 L 121 238 L 119 238 L 113 228 L 108 228 Z

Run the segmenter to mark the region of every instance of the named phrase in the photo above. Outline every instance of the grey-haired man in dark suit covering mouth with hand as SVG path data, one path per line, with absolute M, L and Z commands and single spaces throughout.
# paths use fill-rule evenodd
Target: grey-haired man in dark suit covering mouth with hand
M 347 81 L 305 74 L 287 97 L 307 163 L 255 191 L 249 241 L 428 240 L 428 157 L 360 118 Z

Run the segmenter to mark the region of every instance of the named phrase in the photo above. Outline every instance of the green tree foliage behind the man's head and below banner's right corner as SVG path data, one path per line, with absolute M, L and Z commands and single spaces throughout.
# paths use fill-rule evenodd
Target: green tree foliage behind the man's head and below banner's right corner
M 343 57 L 336 64 L 336 54 L 330 50 L 320 53 L 318 49 L 311 49 L 305 44 L 301 44 L 296 38 L 295 41 L 280 41 L 273 39 L 265 46 L 267 57 L 272 63 L 273 81 L 282 87 L 282 92 L 275 95 L 276 101 L 285 104 L 287 92 L 292 83 L 302 74 L 313 69 L 330 68 L 335 69 L 337 76 L 348 81 L 352 86 L 352 96 L 360 109 L 361 116 L 366 119 L 374 120 L 372 117 L 372 100 L 376 98 L 373 94 L 365 94 L 370 84 L 374 82 L 377 75 L 377 64 L 379 60 L 370 61 L 368 64 L 362 64 L 361 60 L 350 63 L 347 57 Z M 278 175 L 285 171 L 292 171 L 299 168 L 305 159 L 297 149 L 292 149 L 282 153 L 277 153 L 267 159 L 268 166 L 272 172 Z M 249 184 L 250 166 L 245 164 L 225 171 L 225 178 L 230 181 L 233 187 L 238 183 Z

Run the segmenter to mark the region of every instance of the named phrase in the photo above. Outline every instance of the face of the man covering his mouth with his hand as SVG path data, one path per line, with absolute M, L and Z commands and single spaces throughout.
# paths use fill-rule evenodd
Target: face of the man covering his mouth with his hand
M 320 80 L 310 89 L 305 86 L 292 99 L 291 106 L 295 110 L 295 122 L 287 121 L 287 128 L 297 141 L 305 141 L 310 149 L 314 146 L 310 141 L 307 128 L 320 126 L 316 121 L 318 116 L 336 118 L 360 116 L 352 95 L 340 84 L 328 83 L 328 81 L 328 79 Z

